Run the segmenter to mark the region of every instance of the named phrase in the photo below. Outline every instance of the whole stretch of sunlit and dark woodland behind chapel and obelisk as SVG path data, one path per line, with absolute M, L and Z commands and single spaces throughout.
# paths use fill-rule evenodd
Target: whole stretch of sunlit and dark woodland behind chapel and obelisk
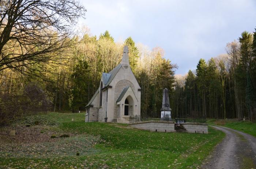
M 30 112 L 83 111 L 102 72 L 121 61 L 124 45 L 142 89 L 142 115 L 160 115 L 168 88 L 173 117 L 256 118 L 256 32 L 242 32 L 226 54 L 200 59 L 196 70 L 176 76 L 178 65 L 161 47 L 148 49 L 132 37 L 115 42 L 111 32 L 91 35 L 87 27 L 74 32 L 86 12 L 75 1 L 0 2 L 1 124 Z

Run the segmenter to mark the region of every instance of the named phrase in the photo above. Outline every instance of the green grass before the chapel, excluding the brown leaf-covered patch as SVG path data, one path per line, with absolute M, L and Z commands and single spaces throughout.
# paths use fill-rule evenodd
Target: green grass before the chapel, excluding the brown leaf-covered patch
M 84 137 L 100 136 L 101 142 L 94 146 L 98 151 L 80 156 L 56 154 L 54 158 L 0 157 L 0 168 L 4 165 L 19 168 L 196 168 L 225 136 L 210 127 L 209 134 L 204 135 L 163 133 L 118 128 L 108 123 L 84 123 L 84 114 L 49 113 L 47 116 L 60 123 L 56 130 Z

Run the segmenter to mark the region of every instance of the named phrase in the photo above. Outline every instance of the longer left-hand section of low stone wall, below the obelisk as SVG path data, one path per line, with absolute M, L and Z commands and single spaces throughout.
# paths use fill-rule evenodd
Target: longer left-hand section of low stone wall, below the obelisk
M 160 132 L 176 132 L 174 130 L 173 122 L 147 121 L 147 122 L 131 123 L 128 125 L 129 127 L 139 128 L 142 130 L 160 131 Z

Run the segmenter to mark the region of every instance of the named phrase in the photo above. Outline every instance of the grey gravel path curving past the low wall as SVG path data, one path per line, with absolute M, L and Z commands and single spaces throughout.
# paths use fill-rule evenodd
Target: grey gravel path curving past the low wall
M 212 126 L 226 133 L 202 169 L 256 169 L 256 138 L 241 131 Z

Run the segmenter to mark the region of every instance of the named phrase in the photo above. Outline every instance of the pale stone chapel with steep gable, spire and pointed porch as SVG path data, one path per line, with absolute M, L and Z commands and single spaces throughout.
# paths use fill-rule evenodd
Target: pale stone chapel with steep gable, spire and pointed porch
M 140 115 L 141 88 L 129 65 L 128 46 L 123 58 L 109 73 L 102 73 L 98 90 L 86 105 L 85 122 L 129 123 Z

